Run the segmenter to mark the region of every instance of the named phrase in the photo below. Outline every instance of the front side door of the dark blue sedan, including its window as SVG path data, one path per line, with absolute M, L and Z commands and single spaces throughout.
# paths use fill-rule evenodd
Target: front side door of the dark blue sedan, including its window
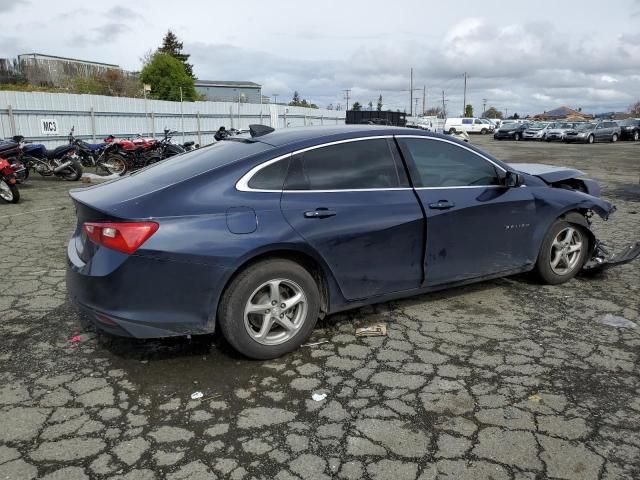
M 530 188 L 501 185 L 504 170 L 441 138 L 398 136 L 427 215 L 425 284 L 514 270 L 535 262 Z

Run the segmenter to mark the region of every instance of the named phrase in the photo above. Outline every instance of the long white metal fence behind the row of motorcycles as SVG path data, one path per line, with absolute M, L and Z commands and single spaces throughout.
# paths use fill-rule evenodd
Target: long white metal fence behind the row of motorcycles
M 43 120 L 52 120 L 56 133 L 43 131 Z M 160 136 L 165 128 L 177 130 L 176 141 L 213 142 L 219 127 L 248 128 L 261 123 L 274 128 L 344 123 L 345 112 L 234 102 L 165 102 L 138 98 L 75 95 L 67 93 L 0 91 L 0 139 L 23 135 L 30 141 L 52 146 L 75 136 L 99 142 L 107 135 Z

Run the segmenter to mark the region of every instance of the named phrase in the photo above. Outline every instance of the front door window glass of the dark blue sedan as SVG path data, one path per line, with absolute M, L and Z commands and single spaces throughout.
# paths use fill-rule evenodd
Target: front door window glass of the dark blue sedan
M 405 138 L 405 155 L 413 159 L 412 177 L 419 187 L 500 185 L 496 168 L 479 155 L 449 142 Z

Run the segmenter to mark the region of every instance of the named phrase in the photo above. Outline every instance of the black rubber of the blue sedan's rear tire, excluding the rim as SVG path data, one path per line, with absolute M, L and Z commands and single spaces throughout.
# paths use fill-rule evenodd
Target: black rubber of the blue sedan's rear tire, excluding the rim
M 280 345 L 256 342 L 244 326 L 244 308 L 249 295 L 263 283 L 284 278 L 297 283 L 307 297 L 307 318 L 298 333 Z M 239 273 L 226 289 L 218 308 L 218 325 L 225 339 L 241 354 L 256 360 L 277 358 L 296 350 L 309 338 L 318 320 L 320 294 L 309 272 L 289 260 L 266 260 Z

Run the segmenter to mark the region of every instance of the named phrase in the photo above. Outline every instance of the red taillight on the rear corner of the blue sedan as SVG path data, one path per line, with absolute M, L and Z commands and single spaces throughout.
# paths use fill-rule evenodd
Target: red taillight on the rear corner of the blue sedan
M 140 248 L 158 227 L 155 222 L 87 222 L 83 225 L 92 242 L 127 255 Z

